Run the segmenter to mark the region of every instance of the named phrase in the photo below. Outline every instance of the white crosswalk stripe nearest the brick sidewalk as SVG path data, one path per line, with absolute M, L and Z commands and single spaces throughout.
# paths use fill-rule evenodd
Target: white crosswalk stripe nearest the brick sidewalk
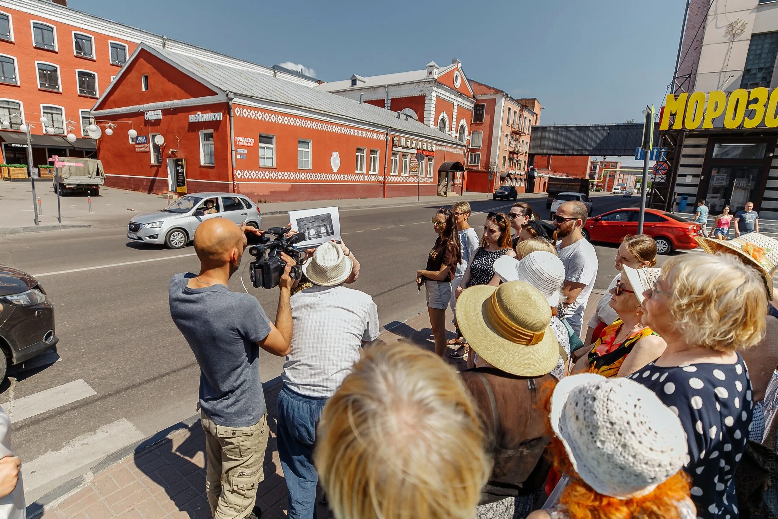
M 85 468 L 86 472 L 95 461 L 143 438 L 137 427 L 122 418 L 73 438 L 59 451 L 48 451 L 40 458 L 22 463 L 26 502 L 32 503 L 51 490 L 45 487 L 48 482 L 54 482 L 79 468 Z

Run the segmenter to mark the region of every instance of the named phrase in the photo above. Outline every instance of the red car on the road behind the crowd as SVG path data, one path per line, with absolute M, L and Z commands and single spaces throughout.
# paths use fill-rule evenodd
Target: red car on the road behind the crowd
M 619 244 L 628 234 L 637 234 L 640 209 L 629 207 L 606 212 L 587 219 L 584 237 L 590 241 L 608 241 Z M 657 209 L 646 209 L 643 233 L 654 237 L 659 254 L 670 254 L 675 249 L 695 249 L 699 225 Z

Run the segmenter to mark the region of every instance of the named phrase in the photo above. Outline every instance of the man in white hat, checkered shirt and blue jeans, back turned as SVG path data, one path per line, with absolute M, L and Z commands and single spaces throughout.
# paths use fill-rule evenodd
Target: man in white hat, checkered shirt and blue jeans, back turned
M 359 361 L 361 347 L 379 334 L 373 298 L 344 286 L 352 275 L 353 254 L 343 248 L 333 241 L 318 247 L 303 265 L 313 286 L 290 300 L 294 334 L 277 409 L 279 459 L 291 519 L 316 517 L 317 423 L 328 398 Z

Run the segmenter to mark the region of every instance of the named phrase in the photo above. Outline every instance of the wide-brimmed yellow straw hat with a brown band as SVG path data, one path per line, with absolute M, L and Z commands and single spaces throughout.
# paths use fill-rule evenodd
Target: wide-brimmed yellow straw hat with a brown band
M 457 300 L 457 324 L 478 356 L 506 373 L 539 377 L 559 359 L 551 307 L 527 282 L 465 289 Z

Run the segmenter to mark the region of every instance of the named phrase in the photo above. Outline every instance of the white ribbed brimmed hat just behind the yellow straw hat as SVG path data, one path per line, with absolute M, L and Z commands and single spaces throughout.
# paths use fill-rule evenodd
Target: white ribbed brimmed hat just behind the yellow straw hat
M 565 265 L 555 254 L 545 251 L 527 254 L 520 261 L 500 256 L 494 272 L 503 282 L 524 281 L 534 286 L 548 300 L 548 306 L 559 304 L 559 288 L 565 282 Z

